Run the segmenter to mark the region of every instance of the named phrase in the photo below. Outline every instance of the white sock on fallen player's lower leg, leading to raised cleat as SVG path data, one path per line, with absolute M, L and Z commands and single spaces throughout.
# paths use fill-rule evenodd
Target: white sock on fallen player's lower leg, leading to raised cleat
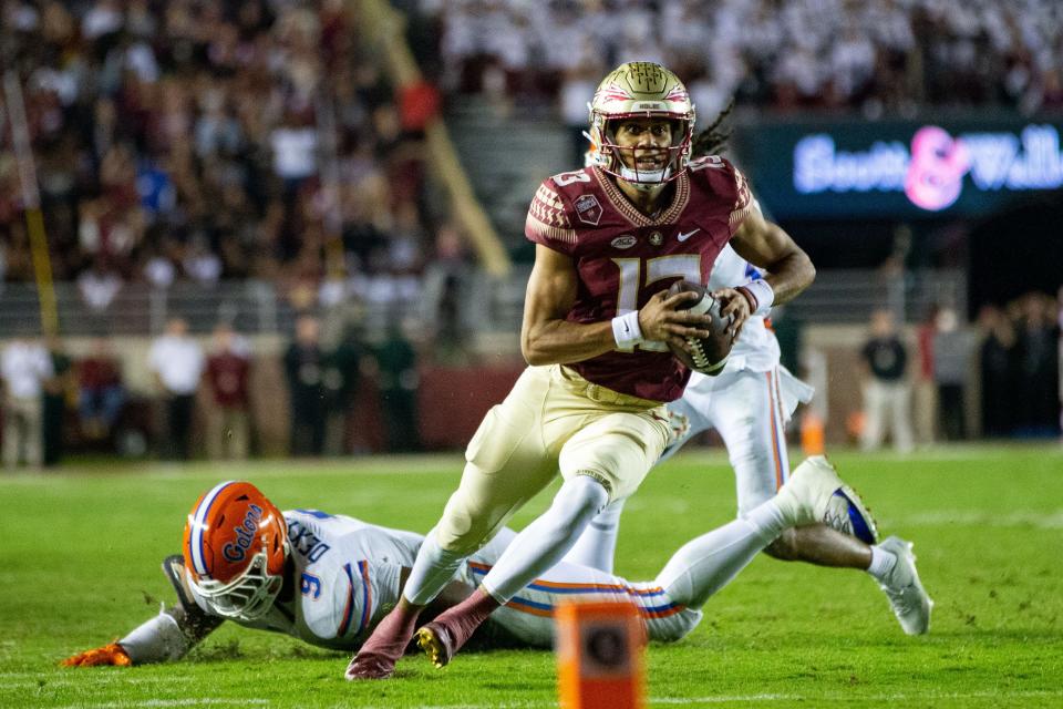
M 750 517 L 766 504 L 757 506 Z M 729 522 L 684 544 L 658 574 L 656 583 L 673 602 L 695 610 L 701 608 L 782 532 L 780 526 L 773 534 L 750 517 Z

